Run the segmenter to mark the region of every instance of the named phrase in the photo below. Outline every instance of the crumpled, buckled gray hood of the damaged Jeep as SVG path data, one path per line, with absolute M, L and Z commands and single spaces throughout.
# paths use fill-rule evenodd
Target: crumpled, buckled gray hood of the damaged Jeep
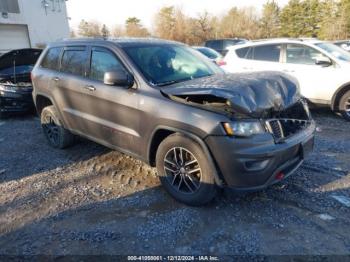
M 227 99 L 241 114 L 261 116 L 266 110 L 281 111 L 301 99 L 299 84 L 280 72 L 254 72 L 214 75 L 163 87 L 167 95 L 215 96 Z

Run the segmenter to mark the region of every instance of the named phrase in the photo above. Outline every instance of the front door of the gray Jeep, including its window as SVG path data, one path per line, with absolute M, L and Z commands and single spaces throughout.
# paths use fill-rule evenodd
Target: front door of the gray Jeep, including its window
M 124 70 L 118 55 L 105 47 L 89 50 L 89 71 L 82 94 L 88 105 L 83 114 L 85 127 L 95 138 L 131 152 L 139 152 L 139 95 L 135 89 L 103 83 L 104 74 Z M 88 123 L 88 124 L 87 124 Z

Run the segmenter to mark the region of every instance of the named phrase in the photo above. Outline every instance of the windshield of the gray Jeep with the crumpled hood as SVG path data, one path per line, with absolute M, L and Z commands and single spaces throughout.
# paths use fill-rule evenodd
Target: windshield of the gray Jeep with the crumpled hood
M 222 73 L 218 66 L 187 46 L 129 46 L 124 50 L 152 85 L 170 85 Z

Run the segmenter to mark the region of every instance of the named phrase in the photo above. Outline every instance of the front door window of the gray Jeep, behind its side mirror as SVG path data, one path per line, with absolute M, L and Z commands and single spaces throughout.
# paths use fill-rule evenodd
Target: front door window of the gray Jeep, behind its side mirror
M 90 78 L 103 81 L 106 72 L 124 69 L 121 62 L 109 51 L 92 51 Z

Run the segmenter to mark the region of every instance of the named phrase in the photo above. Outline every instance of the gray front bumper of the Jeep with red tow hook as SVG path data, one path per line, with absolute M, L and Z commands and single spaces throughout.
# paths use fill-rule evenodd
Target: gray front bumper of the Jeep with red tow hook
M 313 150 L 315 122 L 280 141 L 270 133 L 247 138 L 209 136 L 206 143 L 225 185 L 257 191 L 291 175 Z

